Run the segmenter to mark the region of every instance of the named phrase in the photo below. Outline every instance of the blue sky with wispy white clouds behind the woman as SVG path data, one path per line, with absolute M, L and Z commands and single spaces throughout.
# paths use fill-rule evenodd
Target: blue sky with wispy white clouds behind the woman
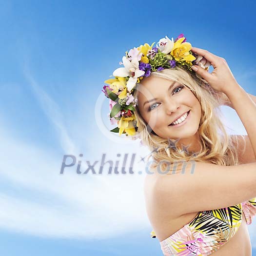
M 183 33 L 256 95 L 254 1 L 0 0 L 0 254 L 161 255 L 143 177 L 77 175 L 86 161 L 148 152 L 107 133 L 101 89 L 125 51 Z M 101 109 L 102 108 L 102 109 Z M 99 111 L 98 111 L 99 110 Z M 230 133 L 246 134 L 223 107 Z M 79 157 L 83 154 L 83 157 Z M 60 175 L 63 155 L 76 165 Z M 256 221 L 249 226 L 256 256 Z

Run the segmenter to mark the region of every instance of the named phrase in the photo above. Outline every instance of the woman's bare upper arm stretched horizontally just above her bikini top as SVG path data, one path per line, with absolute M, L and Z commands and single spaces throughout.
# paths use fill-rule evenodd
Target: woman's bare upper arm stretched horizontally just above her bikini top
M 223 166 L 191 161 L 177 172 L 159 175 L 155 207 L 172 216 L 221 209 L 256 196 L 256 162 Z

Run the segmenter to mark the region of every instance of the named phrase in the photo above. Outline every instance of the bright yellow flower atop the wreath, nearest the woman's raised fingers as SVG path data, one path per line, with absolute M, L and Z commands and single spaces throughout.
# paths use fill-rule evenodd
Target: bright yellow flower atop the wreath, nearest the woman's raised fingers
M 176 61 L 193 61 L 196 59 L 196 57 L 189 53 L 192 45 L 189 42 L 182 43 L 184 39 L 185 38 L 180 38 L 174 43 L 171 55 Z

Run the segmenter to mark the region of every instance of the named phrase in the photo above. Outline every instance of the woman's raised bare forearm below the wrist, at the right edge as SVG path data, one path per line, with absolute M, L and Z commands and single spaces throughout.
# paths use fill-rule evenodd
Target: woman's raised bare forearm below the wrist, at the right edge
M 256 158 L 256 97 L 246 93 L 238 84 L 225 94 L 244 125 Z

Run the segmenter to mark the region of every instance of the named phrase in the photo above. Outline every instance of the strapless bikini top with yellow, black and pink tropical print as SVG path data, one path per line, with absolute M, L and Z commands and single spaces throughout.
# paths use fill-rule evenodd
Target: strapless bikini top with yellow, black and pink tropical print
M 234 206 L 201 211 L 188 224 L 160 242 L 164 256 L 208 256 L 228 242 L 242 222 L 247 225 L 256 215 L 256 197 Z M 156 238 L 154 230 L 150 233 Z

